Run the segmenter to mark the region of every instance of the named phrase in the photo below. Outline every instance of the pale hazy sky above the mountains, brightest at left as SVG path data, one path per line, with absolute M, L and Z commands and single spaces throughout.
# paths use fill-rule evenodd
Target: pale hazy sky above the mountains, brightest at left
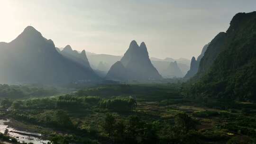
M 57 47 L 122 55 L 131 40 L 150 56 L 191 59 L 256 0 L 0 0 L 0 41 L 32 25 Z

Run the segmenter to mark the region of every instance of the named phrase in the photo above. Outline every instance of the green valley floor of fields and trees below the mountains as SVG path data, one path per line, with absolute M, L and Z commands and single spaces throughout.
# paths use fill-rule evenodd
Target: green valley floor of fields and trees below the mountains
M 178 85 L 107 85 L 61 97 L 26 99 L 19 101 L 18 106 L 13 102 L 11 111 L 2 115 L 11 119 L 9 126 L 43 134 L 52 142 L 126 144 L 116 133 L 119 129 L 111 128 L 119 126 L 119 122 L 125 124 L 122 137 L 127 136 L 137 144 L 149 144 L 147 139 L 154 136 L 157 141 L 151 140 L 152 144 L 255 142 L 256 104 L 191 99 L 181 94 Z M 126 106 L 131 103 L 130 99 L 136 99 L 136 106 Z M 177 115 L 181 113 L 182 117 L 189 117 L 187 121 L 186 118 L 179 121 Z M 115 120 L 108 129 L 109 115 Z M 145 125 L 138 128 L 138 131 L 144 130 L 143 135 L 129 133 L 133 116 L 138 117 L 136 123 Z M 186 126 L 186 123 L 194 126 Z M 180 125 L 185 133 L 177 130 Z M 136 135 L 137 139 L 129 139 L 129 135 Z

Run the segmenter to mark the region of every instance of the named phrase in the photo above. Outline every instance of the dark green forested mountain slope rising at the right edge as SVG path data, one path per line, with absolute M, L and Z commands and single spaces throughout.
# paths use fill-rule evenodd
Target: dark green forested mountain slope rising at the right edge
M 201 59 L 196 95 L 256 101 L 256 12 L 238 13 Z

